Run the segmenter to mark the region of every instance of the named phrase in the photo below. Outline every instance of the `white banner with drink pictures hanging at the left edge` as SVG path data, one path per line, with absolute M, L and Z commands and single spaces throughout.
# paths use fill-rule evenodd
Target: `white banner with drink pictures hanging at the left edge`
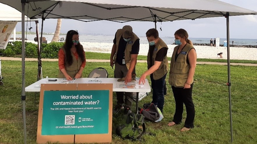
M 0 49 L 6 48 L 16 24 L 17 21 L 0 21 Z

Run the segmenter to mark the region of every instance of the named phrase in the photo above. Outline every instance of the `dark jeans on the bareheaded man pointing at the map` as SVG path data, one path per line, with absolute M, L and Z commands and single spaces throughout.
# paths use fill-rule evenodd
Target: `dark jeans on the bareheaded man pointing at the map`
M 157 107 L 161 110 L 161 112 L 163 112 L 162 109 L 164 105 L 164 94 L 166 94 L 166 92 L 164 91 L 166 90 L 166 82 L 165 82 L 166 75 L 167 73 L 162 78 L 154 80 L 153 74 L 150 74 L 152 89 L 153 89 L 152 103 L 157 105 Z

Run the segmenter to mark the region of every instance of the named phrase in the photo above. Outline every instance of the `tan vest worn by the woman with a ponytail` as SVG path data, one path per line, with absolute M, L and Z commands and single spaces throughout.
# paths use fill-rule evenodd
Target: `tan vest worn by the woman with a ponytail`
M 174 87 L 184 87 L 190 65 L 187 63 L 187 55 L 188 52 L 194 48 L 192 45 L 187 43 L 185 47 L 181 50 L 181 52 L 178 54 L 178 58 L 175 61 L 175 54 L 178 50 L 179 46 L 176 46 L 174 48 L 172 57 L 171 57 L 171 66 L 170 66 L 170 73 L 169 73 L 169 84 L 171 84 Z M 194 82 L 194 78 L 190 82 L 192 84 Z

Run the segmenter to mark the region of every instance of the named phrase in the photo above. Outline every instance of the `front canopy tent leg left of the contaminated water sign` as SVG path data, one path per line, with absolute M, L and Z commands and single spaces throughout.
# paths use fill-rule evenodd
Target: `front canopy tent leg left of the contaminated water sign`
M 23 134 L 24 134 L 24 144 L 27 143 L 26 137 L 26 95 L 25 95 L 25 0 L 22 3 L 22 116 L 23 116 Z

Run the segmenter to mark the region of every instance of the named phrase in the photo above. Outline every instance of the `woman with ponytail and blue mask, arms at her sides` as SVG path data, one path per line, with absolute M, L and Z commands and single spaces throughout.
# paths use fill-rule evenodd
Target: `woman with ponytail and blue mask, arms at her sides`
M 180 131 L 185 132 L 194 127 L 195 109 L 192 100 L 192 89 L 196 68 L 196 51 L 192 42 L 188 39 L 186 30 L 177 30 L 174 37 L 175 43 L 178 46 L 174 48 L 171 56 L 169 84 L 171 84 L 176 102 L 176 110 L 173 120 L 168 123 L 168 126 L 174 126 L 182 122 L 184 103 L 186 106 L 187 118 L 184 127 Z

